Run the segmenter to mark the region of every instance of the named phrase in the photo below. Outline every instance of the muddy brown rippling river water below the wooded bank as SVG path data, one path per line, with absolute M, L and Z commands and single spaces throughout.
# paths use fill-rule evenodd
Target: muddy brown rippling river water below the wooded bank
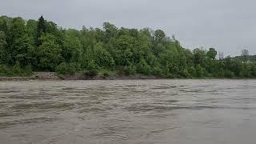
M 256 80 L 0 82 L 1 144 L 255 144 Z

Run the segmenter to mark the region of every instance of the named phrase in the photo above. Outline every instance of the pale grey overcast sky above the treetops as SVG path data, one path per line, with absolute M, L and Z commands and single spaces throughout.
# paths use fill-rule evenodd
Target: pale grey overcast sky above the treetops
M 255 0 L 0 0 L 0 15 L 38 19 L 64 28 L 150 27 L 172 34 L 186 48 L 214 47 L 256 54 Z

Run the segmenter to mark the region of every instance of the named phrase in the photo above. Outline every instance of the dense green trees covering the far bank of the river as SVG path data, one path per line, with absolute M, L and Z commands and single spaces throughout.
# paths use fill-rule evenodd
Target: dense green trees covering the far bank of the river
M 219 58 L 217 58 L 219 56 Z M 254 78 L 256 63 L 246 51 L 224 58 L 214 48 L 189 50 L 162 30 L 62 29 L 38 20 L 0 17 L 0 76 L 33 71 L 88 75 L 154 75 L 164 78 Z M 249 58 L 249 59 L 248 59 Z

